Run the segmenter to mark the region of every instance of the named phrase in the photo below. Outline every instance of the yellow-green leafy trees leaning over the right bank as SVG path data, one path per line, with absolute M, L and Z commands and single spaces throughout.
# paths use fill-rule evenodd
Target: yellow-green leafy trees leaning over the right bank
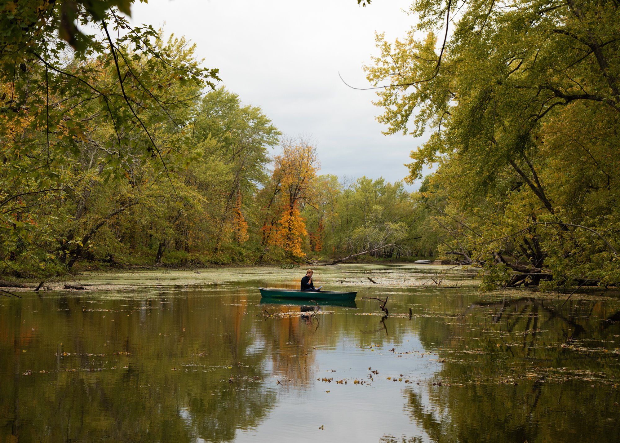
M 620 282 L 618 5 L 432 0 L 411 12 L 417 25 L 394 43 L 378 35 L 366 71 L 387 83 L 386 133 L 433 130 L 409 180 L 436 166 L 414 197 L 441 253 L 485 266 L 487 289 Z

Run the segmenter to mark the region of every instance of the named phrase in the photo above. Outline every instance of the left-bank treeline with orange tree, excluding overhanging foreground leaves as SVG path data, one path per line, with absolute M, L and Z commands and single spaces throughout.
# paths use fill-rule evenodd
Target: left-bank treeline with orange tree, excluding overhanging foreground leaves
M 169 44 L 180 50 L 184 42 Z M 56 150 L 50 151 L 50 168 L 62 165 L 53 170 L 57 184 L 27 194 L 22 174 L 3 174 L 4 233 L 17 241 L 5 238 L 2 272 L 56 274 L 80 261 L 204 266 L 304 262 L 362 251 L 409 256 L 409 239 L 419 236 L 415 202 L 402 182 L 319 175 L 315 146 L 281 136 L 259 107 L 243 105 L 223 87 L 186 102 L 182 112 L 175 115 L 185 119 L 182 128 L 166 119 L 149 124 L 170 156 L 163 163 L 168 171 L 158 158 L 135 151 L 108 166 L 116 155 L 105 147 L 113 123 L 92 110 L 77 158 L 58 161 Z M 31 136 L 32 143 L 38 138 L 41 163 L 35 165 L 47 168 L 45 133 L 25 128 L 20 136 Z M 141 136 L 137 130 L 133 140 L 139 143 Z M 175 143 L 174 161 L 167 143 Z M 3 154 L 11 168 L 32 167 L 37 159 Z

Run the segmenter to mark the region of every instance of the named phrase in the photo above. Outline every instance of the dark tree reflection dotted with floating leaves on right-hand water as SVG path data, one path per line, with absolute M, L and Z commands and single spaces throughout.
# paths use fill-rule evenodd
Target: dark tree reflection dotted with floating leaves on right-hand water
M 407 388 L 405 411 L 438 442 L 616 441 L 617 304 L 560 303 L 493 300 L 439 327 L 423 319 L 443 383 Z

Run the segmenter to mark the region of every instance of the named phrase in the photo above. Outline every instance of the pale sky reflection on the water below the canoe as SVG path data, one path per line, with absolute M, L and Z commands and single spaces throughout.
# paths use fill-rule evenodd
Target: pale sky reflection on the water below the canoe
M 423 349 L 417 336 L 403 339 L 403 351 Z M 269 418 L 256 429 L 239 432 L 236 441 L 270 442 L 278 436 L 278 441 L 378 442 L 396 429 L 407 436 L 424 436 L 425 432 L 402 413 L 406 401 L 402 395 L 405 384 L 386 378 L 408 379 L 415 385 L 435 372 L 438 363 L 429 360 L 436 356 L 397 357 L 387 351 L 394 346 L 398 344 L 386 342 L 376 351 L 370 351 L 345 339 L 335 349 L 317 350 L 319 370 L 316 377 L 333 377 L 334 380 L 327 383 L 314 378 L 311 390 L 304 387 L 299 392 L 281 392 Z M 378 370 L 379 375 L 371 374 L 368 367 Z M 368 378 L 369 374 L 373 375 L 373 381 Z M 403 377 L 399 377 L 400 374 Z M 341 379 L 347 379 L 347 384 L 336 383 Z M 365 380 L 371 385 L 355 385 L 353 380 Z M 324 429 L 319 429 L 320 426 Z

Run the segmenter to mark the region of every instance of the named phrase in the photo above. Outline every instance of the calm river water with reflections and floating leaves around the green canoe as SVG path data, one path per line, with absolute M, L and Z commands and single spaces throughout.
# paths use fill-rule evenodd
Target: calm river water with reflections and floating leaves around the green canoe
M 358 298 L 309 316 L 257 290 L 304 269 L 2 297 L 0 442 L 617 442 L 618 298 L 437 287 L 445 269 L 319 267 Z M 387 317 L 361 299 L 386 296 Z

